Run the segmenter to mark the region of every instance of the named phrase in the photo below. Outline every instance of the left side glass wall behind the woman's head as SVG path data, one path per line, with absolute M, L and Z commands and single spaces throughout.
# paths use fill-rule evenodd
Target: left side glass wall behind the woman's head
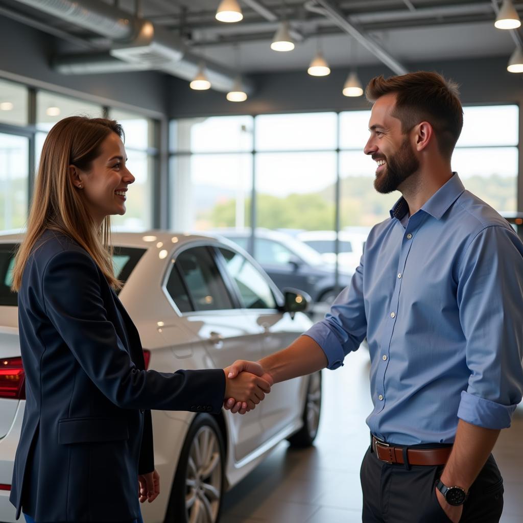
M 34 107 L 32 113 L 29 110 Z M 40 153 L 47 133 L 74 115 L 117 119 L 126 132 L 128 166 L 136 177 L 128 211 L 113 220 L 115 230 L 152 227 L 153 180 L 158 171 L 155 122 L 141 115 L 0 79 L 0 232 L 24 227 Z

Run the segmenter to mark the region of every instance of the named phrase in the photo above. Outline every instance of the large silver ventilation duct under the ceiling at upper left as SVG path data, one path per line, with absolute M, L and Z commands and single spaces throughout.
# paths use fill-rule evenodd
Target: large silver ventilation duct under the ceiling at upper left
M 109 38 L 114 44 L 106 53 L 90 53 L 57 58 L 53 63 L 59 71 L 73 74 L 102 73 L 109 71 L 157 70 L 186 80 L 198 71 L 201 57 L 192 53 L 184 42 L 149 20 L 138 19 L 126 11 L 104 4 L 99 0 L 19 0 L 61 20 Z M 116 60 L 123 62 L 121 66 Z M 99 62 L 98 62 L 99 61 Z M 97 69 L 98 62 L 98 69 Z M 111 64 L 113 65 L 111 69 Z M 212 87 L 229 92 L 237 72 L 206 60 L 206 73 Z M 247 94 L 252 94 L 253 84 L 242 82 Z

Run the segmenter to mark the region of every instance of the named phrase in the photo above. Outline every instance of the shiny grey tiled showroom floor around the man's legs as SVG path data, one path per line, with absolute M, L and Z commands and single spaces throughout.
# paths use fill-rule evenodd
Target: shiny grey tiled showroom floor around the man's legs
M 324 371 L 323 410 L 315 446 L 281 443 L 224 499 L 222 523 L 356 523 L 361 521 L 359 468 L 369 445 L 372 409 L 368 354 L 358 351 L 341 369 Z M 523 522 L 523 408 L 503 430 L 494 456 L 505 479 L 502 523 Z

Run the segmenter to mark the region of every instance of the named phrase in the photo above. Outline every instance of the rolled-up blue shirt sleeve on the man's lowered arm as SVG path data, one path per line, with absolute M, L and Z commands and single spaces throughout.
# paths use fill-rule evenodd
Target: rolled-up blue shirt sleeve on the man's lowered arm
M 458 277 L 470 370 L 458 417 L 506 428 L 523 391 L 523 252 L 516 234 L 498 225 L 484 228 L 466 249 Z

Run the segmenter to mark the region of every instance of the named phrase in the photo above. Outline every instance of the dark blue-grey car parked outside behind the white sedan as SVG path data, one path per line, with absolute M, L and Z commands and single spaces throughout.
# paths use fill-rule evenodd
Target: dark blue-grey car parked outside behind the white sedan
M 251 231 L 224 229 L 217 232 L 247 250 Z M 313 311 L 323 315 L 339 291 L 347 287 L 354 269 L 339 268 L 338 289 L 335 266 L 297 238 L 269 229 L 257 229 L 254 258 L 278 288 L 294 287 L 308 293 L 315 303 Z

